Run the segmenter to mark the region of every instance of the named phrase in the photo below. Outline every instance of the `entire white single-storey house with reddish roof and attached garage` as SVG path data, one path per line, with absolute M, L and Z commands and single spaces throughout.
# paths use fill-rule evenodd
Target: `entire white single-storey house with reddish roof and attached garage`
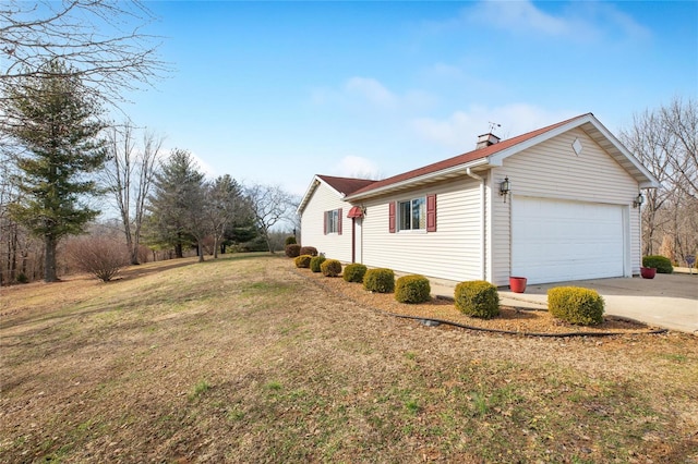
M 315 175 L 298 212 L 327 257 L 506 285 L 631 277 L 652 174 L 582 114 L 381 181 Z

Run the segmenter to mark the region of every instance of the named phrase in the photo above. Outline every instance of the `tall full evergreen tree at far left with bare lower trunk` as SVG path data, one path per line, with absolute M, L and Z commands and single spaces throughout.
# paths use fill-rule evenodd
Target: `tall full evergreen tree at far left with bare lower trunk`
M 44 280 L 55 282 L 60 239 L 83 232 L 99 213 L 86 199 L 98 193 L 89 174 L 106 160 L 105 142 L 98 138 L 100 109 L 79 74 L 56 60 L 9 91 L 3 110 L 11 124 L 5 131 L 20 152 L 21 191 L 10 213 L 44 240 Z

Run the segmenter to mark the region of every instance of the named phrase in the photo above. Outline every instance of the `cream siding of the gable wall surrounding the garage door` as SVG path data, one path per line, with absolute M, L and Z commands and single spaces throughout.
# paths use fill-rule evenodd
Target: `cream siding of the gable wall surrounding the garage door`
M 571 145 L 578 138 L 580 155 Z M 498 195 L 498 183 L 505 176 L 512 183 L 507 203 Z M 517 196 L 556 198 L 571 202 L 610 204 L 629 207 L 629 241 L 631 273 L 639 272 L 639 209 L 633 208 L 637 182 L 593 142 L 581 129 L 575 129 L 550 141 L 526 149 L 504 160 L 492 172 L 490 183 L 492 205 L 492 269 L 495 285 L 508 284 L 510 262 L 510 215 Z M 515 235 L 515 233 L 514 233 Z

